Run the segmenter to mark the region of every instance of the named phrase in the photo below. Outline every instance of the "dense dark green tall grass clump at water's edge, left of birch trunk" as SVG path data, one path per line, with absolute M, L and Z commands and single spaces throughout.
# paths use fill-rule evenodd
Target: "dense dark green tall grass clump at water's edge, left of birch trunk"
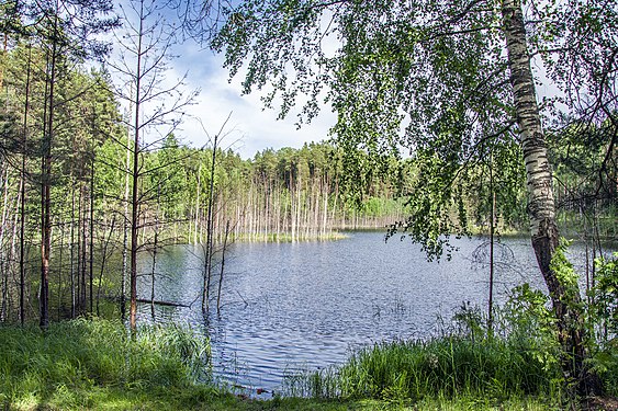
M 415 403 L 436 398 L 560 397 L 560 370 L 501 339 L 448 336 L 381 343 L 341 367 L 290 381 L 291 391 L 318 398 L 373 398 Z

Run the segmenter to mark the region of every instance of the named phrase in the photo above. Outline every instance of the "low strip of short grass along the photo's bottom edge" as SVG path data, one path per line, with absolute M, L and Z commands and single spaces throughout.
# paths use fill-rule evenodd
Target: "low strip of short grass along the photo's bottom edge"
M 308 398 L 276 398 L 269 401 L 239 398 L 207 386 L 171 389 L 120 389 L 117 387 L 58 390 L 44 400 L 25 398 L 5 406 L 11 410 L 153 410 L 153 411 L 384 411 L 384 410 L 559 410 L 535 398 L 515 398 L 501 403 L 482 398 L 460 397 L 425 399 L 415 404 L 397 404 L 370 399 L 325 400 Z

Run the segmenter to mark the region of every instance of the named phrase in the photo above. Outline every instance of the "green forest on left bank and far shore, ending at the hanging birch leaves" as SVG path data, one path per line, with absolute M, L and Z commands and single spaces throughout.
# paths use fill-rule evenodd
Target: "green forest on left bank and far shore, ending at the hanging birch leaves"
M 226 230 L 231 241 L 328 239 L 403 216 L 395 178 L 352 198 L 340 152 L 326 142 L 243 160 L 216 140 L 192 148 L 173 133 L 136 141 L 141 127 L 121 113 L 109 73 L 87 69 L 75 38 L 18 28 L 7 27 L 2 55 L 2 322 L 41 313 L 42 242 L 47 298 L 61 319 L 94 312 L 100 298 L 124 300 L 131 250 L 212 248 Z

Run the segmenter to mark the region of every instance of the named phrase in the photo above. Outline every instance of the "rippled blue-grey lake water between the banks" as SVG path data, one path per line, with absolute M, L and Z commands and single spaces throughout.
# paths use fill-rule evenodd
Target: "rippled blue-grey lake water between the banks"
M 409 240 L 384 242 L 381 232 L 349 232 L 333 242 L 237 243 L 226 254 L 221 317 L 213 311 L 207 320 L 200 299 L 203 251 L 175 246 L 158 253 L 156 299 L 191 307 L 161 308 L 156 318 L 204 327 L 214 373 L 227 383 L 279 390 L 284 375 L 341 364 L 355 347 L 431 335 L 438 318 L 448 322 L 464 301 L 486 309 L 488 269 L 474 261 L 485 241 L 456 240 L 459 251 L 439 263 L 427 262 Z M 502 242 L 496 300 L 524 282 L 546 289 L 530 240 Z M 581 261 L 581 247 L 571 253 Z M 142 272 L 150 272 L 149 261 L 144 254 Z M 141 277 L 139 297 L 149 295 L 149 278 Z M 148 306 L 139 317 L 150 320 Z

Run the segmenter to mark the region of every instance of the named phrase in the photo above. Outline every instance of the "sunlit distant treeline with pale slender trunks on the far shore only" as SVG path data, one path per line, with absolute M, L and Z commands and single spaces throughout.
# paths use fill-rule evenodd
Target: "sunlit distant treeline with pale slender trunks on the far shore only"
M 110 141 L 101 147 L 101 173 L 113 174 L 100 193 L 122 194 L 122 148 Z M 211 175 L 212 161 L 214 174 Z M 341 183 L 341 153 L 330 144 L 301 149 L 267 149 L 243 160 L 232 150 L 195 149 L 168 136 L 160 149 L 144 156 L 145 238 L 153 222 L 165 222 L 177 242 L 204 242 L 207 198 L 213 190 L 213 233 L 250 241 L 328 239 L 346 229 L 385 229 L 404 216 L 396 198 L 396 176 L 374 179 L 362 193 Z M 115 182 L 115 186 L 114 186 Z M 119 182 L 121 184 L 119 184 Z M 106 219 L 112 218 L 111 215 Z

